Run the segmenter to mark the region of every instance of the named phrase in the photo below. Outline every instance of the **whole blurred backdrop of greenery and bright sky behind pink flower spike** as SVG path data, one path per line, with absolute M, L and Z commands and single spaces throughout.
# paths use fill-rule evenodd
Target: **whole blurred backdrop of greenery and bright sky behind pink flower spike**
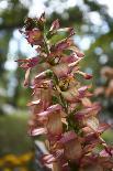
M 36 170 L 26 133 L 30 93 L 14 61 L 35 55 L 19 29 L 44 11 L 48 25 L 58 18 L 75 28 L 75 43 L 86 54 L 82 68 L 93 74 L 94 99 L 103 106 L 100 117 L 113 124 L 113 0 L 0 0 L 0 171 Z M 112 130 L 103 137 L 113 143 Z

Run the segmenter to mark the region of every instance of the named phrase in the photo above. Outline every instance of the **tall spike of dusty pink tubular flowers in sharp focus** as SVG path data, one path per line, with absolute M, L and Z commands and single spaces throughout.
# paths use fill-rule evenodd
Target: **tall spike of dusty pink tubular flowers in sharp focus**
M 53 171 L 112 170 L 113 148 L 101 137 L 110 126 L 99 122 L 101 106 L 90 100 L 91 86 L 78 79 L 92 76 L 80 71 L 84 55 L 74 43 L 74 29 L 60 29 L 55 20 L 47 30 L 43 13 L 27 18 L 21 33 L 37 51 L 37 56 L 18 62 L 25 70 L 24 85 L 33 92 L 29 133 L 46 138 L 49 154 L 43 162 Z M 32 81 L 31 72 L 36 74 Z

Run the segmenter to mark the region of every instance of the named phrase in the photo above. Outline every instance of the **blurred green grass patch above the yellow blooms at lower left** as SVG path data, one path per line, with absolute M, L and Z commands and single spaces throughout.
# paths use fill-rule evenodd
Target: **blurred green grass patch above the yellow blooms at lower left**
M 33 143 L 27 136 L 27 115 L 0 116 L 0 156 L 31 151 Z

